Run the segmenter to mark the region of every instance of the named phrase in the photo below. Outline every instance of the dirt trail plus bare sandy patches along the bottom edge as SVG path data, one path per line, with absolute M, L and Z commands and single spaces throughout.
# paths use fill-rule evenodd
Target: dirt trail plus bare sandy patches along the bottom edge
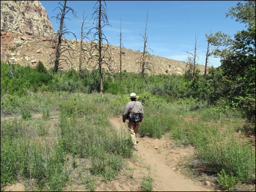
M 127 131 L 121 117 L 114 117 L 111 123 L 117 131 Z M 194 148 L 175 146 L 168 135 L 161 139 L 140 138 L 137 135 L 138 150 L 134 157 L 125 159 L 125 166 L 111 182 L 97 181 L 95 191 L 142 191 L 143 176 L 153 178 L 153 191 L 214 191 L 203 182 L 193 181 L 181 174 L 186 157 L 193 156 Z M 15 183 L 4 191 L 26 191 L 25 185 Z M 88 191 L 86 185 L 73 183 L 63 191 Z

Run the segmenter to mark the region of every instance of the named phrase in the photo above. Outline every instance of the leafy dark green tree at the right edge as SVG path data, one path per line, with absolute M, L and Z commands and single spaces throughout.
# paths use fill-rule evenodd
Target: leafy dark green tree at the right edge
M 245 109 L 255 127 L 255 1 L 238 2 L 226 17 L 245 24 L 234 38 L 221 31 L 206 36 L 214 46 L 213 55 L 220 57 L 223 76 L 233 86 L 225 86 L 226 97 Z

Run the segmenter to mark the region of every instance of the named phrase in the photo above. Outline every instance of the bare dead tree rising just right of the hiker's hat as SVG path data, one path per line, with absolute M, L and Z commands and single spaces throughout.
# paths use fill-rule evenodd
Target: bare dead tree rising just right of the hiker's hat
M 148 14 L 147 14 L 145 33 L 144 33 L 144 36 L 142 35 L 144 40 L 143 53 L 141 57 L 139 57 L 136 60 L 136 65 L 139 65 L 139 71 L 141 71 L 141 75 L 144 80 L 145 80 L 145 75 L 148 75 L 148 72 L 153 73 L 153 64 L 150 62 L 151 55 L 149 53 L 150 48 L 148 46 L 147 27 L 148 27 Z

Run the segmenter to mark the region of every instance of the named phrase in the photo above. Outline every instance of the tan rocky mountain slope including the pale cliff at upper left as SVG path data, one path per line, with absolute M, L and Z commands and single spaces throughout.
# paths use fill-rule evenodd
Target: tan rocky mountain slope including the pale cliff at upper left
M 52 23 L 48 19 L 45 8 L 39 1 L 1 1 L 1 60 L 6 61 L 9 57 L 10 63 L 22 66 L 30 65 L 35 67 L 38 61 L 50 69 L 54 66 L 53 58 L 55 46 L 52 41 L 54 34 Z M 80 44 L 75 40 L 67 40 L 74 53 L 66 54 L 72 61 L 63 63 L 61 69 L 74 68 L 78 70 L 78 58 Z M 84 42 L 84 47 L 88 46 Z M 111 45 L 112 59 L 111 72 L 120 71 L 120 50 L 119 47 Z M 123 48 L 122 71 L 141 72 L 136 65 L 136 60 L 141 56 L 141 52 Z M 97 67 L 97 60 L 92 60 L 87 64 L 89 50 L 84 48 L 82 69 L 92 70 Z M 151 55 L 150 62 L 154 66 L 154 73 L 178 74 L 185 73 L 186 63 L 173 59 Z M 104 66 L 103 66 L 104 67 Z M 198 65 L 203 73 L 204 66 Z

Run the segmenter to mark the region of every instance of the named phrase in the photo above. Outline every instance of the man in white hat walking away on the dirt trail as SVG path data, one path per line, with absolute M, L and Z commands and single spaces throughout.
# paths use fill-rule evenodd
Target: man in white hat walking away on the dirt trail
M 128 128 L 135 151 L 138 151 L 136 133 L 139 129 L 139 123 L 142 122 L 144 116 L 141 102 L 136 101 L 138 97 L 134 92 L 130 94 L 131 101 L 126 104 L 123 114 L 123 122 L 125 123 L 126 119 L 128 119 Z

